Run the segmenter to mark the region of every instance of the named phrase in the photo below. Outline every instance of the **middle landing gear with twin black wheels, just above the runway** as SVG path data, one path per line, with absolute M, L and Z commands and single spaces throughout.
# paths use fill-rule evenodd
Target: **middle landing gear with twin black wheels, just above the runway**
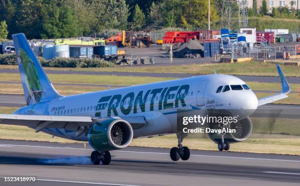
M 173 147 L 170 150 L 170 157 L 173 161 L 178 161 L 179 158 L 181 158 L 181 160 L 188 160 L 190 158 L 189 148 L 181 144 L 184 137 L 182 133 L 177 133 L 178 147 Z

